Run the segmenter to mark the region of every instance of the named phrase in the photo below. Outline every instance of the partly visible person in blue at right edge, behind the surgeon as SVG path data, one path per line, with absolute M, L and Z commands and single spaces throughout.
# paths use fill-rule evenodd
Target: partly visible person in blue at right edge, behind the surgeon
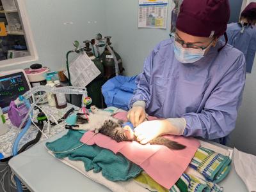
M 227 36 L 228 43 L 243 52 L 246 72 L 251 73 L 256 53 L 256 3 L 246 6 L 238 23 L 228 24 Z

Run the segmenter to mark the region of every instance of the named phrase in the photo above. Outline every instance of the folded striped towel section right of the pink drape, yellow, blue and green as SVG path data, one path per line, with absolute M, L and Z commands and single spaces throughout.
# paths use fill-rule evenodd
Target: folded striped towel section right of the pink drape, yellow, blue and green
M 231 169 L 231 159 L 204 147 L 199 147 L 189 166 L 211 182 L 222 181 Z

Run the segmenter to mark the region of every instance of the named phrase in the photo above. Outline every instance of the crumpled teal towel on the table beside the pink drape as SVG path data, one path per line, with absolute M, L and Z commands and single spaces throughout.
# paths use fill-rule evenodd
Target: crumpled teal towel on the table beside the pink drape
M 47 142 L 46 147 L 50 151 L 68 151 L 82 145 L 80 138 L 83 133 L 69 130 L 67 135 Z M 81 147 L 63 153 L 55 153 L 56 158 L 66 158 L 84 162 L 84 168 L 88 172 L 102 172 L 102 175 L 110 181 L 127 181 L 134 178 L 142 171 L 140 166 L 126 159 L 122 154 L 114 154 L 108 149 L 103 149 L 97 145 L 82 145 Z

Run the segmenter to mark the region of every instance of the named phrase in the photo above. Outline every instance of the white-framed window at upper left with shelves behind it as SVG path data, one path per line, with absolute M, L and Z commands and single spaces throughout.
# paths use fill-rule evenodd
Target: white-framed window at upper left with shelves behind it
M 0 0 L 0 68 L 37 59 L 24 0 Z

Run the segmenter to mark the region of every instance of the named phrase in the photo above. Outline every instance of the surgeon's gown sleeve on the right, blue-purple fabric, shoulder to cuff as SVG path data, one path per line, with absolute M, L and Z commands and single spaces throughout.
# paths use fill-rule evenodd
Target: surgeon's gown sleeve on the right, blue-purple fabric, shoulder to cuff
M 242 101 L 245 72 L 245 59 L 241 55 L 216 85 L 205 103 L 204 110 L 198 114 L 183 115 L 186 120 L 184 136 L 212 140 L 227 136 L 235 128 L 237 110 Z

